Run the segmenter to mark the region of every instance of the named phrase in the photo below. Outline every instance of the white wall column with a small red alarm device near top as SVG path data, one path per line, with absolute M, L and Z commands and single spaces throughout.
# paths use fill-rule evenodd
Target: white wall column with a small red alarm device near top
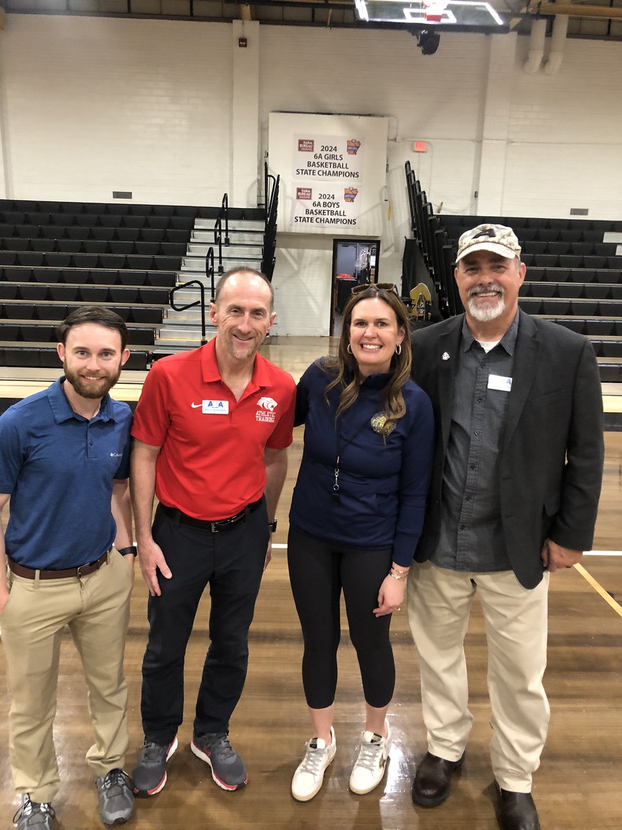
M 234 20 L 231 51 L 231 207 L 256 207 L 259 155 L 260 24 Z M 240 45 L 245 38 L 246 46 Z

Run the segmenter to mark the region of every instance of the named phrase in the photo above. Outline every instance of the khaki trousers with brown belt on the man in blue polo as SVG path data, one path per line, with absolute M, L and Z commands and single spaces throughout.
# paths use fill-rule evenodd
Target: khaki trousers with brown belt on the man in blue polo
M 52 725 L 63 629 L 69 627 L 88 686 L 95 744 L 86 761 L 95 776 L 123 768 L 128 747 L 123 671 L 134 569 L 112 550 L 108 564 L 77 579 L 10 574 L 0 615 L 7 657 L 9 761 L 17 793 L 50 802 L 60 784 Z M 66 692 L 67 694 L 67 692 Z M 73 701 L 64 701 L 71 706 Z

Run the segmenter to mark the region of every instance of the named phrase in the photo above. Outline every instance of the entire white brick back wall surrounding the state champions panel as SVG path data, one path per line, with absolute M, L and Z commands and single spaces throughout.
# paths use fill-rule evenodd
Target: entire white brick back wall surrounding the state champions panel
M 261 26 L 258 55 L 236 48 L 226 23 L 9 14 L 4 193 L 104 201 L 131 190 L 136 202 L 220 204 L 235 188 L 251 204 L 270 112 L 289 110 L 388 117 L 382 279 L 401 273 L 406 159 L 443 212 L 622 217 L 620 41 L 566 41 L 554 76 L 522 71 L 527 38 L 515 36 L 444 32 L 422 56 L 407 32 Z M 248 66 L 257 76 L 246 85 Z M 426 154 L 412 152 L 415 139 Z M 326 334 L 330 239 L 283 235 L 278 245 L 279 334 Z

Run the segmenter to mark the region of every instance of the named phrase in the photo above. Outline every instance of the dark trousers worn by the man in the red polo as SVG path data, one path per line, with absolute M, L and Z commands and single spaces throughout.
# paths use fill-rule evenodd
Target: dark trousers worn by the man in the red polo
M 197 695 L 194 734 L 226 732 L 248 666 L 248 630 L 268 545 L 265 503 L 224 533 L 182 525 L 156 511 L 153 539 L 171 579 L 159 575 L 160 597 L 149 597 L 149 637 L 143 659 L 141 713 L 147 740 L 167 745 L 183 720 L 183 668 L 188 638 L 207 584 L 210 647 Z

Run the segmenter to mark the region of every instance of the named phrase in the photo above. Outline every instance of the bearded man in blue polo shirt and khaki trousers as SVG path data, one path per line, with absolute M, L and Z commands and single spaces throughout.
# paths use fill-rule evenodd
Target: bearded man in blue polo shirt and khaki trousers
M 132 414 L 108 394 L 129 358 L 128 330 L 113 311 L 87 307 L 58 333 L 65 376 L 0 417 L 0 509 L 11 501 L 6 537 L 0 525 L 0 626 L 12 695 L 9 760 L 22 796 L 17 830 L 51 830 L 55 818 L 52 725 L 65 626 L 89 687 L 95 743 L 86 761 L 100 818 L 123 823 L 134 808 L 123 771 Z

